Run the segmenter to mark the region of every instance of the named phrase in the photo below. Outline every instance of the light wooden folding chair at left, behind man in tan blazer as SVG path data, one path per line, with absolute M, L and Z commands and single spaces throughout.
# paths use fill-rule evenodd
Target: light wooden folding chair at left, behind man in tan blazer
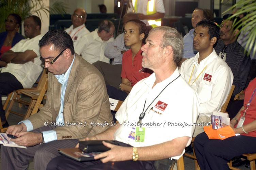
M 41 78 L 38 82 L 37 87 L 27 88 L 27 89 L 18 89 L 16 91 L 14 91 L 13 98 L 12 98 L 12 100 L 10 102 L 10 105 L 7 108 L 6 113 L 5 113 L 6 119 L 9 116 L 10 113 L 13 113 L 13 114 L 16 114 L 18 116 L 24 117 L 24 119 L 27 119 L 32 114 L 37 113 L 38 109 L 40 107 L 42 107 L 41 102 L 42 102 L 42 100 L 45 96 L 45 92 L 47 90 L 47 84 L 48 84 L 47 75 L 48 75 L 48 71 L 47 71 L 47 69 L 44 69 L 43 72 L 42 72 Z M 21 95 L 28 96 L 30 98 L 30 101 L 21 99 L 20 98 Z M 27 109 L 27 112 L 26 112 L 25 115 L 21 115 L 17 112 L 11 111 L 11 108 L 12 108 L 15 101 L 18 102 L 19 104 L 28 105 L 28 109 Z M 0 122 L 0 129 L 2 129 L 2 123 L 1 122 Z

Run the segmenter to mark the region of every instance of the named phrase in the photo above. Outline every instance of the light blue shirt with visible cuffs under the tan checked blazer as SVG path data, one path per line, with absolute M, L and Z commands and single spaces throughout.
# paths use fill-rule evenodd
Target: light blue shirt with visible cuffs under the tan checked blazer
M 70 74 L 70 71 L 71 71 L 74 61 L 75 61 L 75 56 L 74 56 L 74 59 L 73 59 L 71 65 L 67 69 L 66 73 L 63 73 L 61 75 L 55 75 L 55 77 L 58 79 L 58 82 L 61 83 L 60 110 L 59 110 L 59 114 L 56 118 L 57 125 L 62 125 L 62 126 L 65 125 L 65 122 L 63 119 L 64 96 L 65 96 L 65 91 L 66 91 L 66 87 L 67 87 L 68 77 L 69 77 L 69 74 Z M 33 125 L 30 120 L 24 120 L 24 121 L 19 122 L 19 124 L 20 123 L 25 123 L 25 125 L 27 126 L 27 132 L 33 130 Z M 56 134 L 56 131 L 54 131 L 54 130 L 44 131 L 43 136 L 44 136 L 45 143 L 53 141 L 53 140 L 57 140 L 57 134 Z

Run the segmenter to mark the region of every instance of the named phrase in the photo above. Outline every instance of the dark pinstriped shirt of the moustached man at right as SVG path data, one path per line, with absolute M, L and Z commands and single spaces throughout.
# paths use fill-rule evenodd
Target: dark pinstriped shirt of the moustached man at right
M 219 39 L 218 44 L 214 48 L 218 55 L 223 50 L 224 46 L 225 44 L 222 39 Z M 235 90 L 232 96 L 235 96 L 242 91 L 246 85 L 250 73 L 251 58 L 250 55 L 247 56 L 247 51 L 244 54 L 244 48 L 237 41 L 228 44 L 225 53 L 226 63 L 231 68 L 234 75 L 233 84 L 235 85 Z

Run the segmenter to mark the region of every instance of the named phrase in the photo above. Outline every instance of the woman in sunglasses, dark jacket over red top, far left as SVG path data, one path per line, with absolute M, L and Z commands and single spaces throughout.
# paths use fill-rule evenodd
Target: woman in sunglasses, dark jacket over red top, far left
M 21 26 L 21 18 L 18 14 L 10 14 L 5 19 L 5 32 L 0 33 L 0 59 L 4 52 L 10 50 L 24 37 L 18 33 Z M 6 66 L 6 63 L 0 61 L 0 66 Z

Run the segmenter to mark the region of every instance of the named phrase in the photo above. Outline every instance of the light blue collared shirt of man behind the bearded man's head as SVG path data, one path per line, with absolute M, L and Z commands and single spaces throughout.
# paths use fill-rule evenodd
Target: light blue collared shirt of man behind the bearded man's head
M 182 58 L 191 58 L 197 53 L 193 48 L 194 30 L 195 29 L 190 30 L 189 33 L 183 37 L 184 48 Z

